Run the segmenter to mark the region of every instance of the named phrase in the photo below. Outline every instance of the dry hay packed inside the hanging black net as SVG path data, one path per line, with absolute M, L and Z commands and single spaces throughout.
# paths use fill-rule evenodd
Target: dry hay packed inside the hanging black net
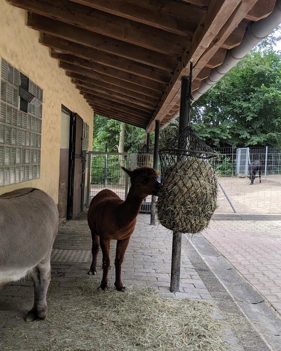
M 216 209 L 217 180 L 207 160 L 187 157 L 166 169 L 157 201 L 160 223 L 180 233 L 205 229 Z

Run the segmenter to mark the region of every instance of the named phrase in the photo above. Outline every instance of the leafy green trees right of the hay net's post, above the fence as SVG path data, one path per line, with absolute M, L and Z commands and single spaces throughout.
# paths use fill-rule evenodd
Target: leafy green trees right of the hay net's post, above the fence
M 192 106 L 211 146 L 281 146 L 281 55 L 252 50 Z

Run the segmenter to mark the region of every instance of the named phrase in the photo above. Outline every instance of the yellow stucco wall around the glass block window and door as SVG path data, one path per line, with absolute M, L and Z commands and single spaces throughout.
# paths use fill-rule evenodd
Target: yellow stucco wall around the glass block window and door
M 0 0 L 0 57 L 43 89 L 40 179 L 0 187 L 0 194 L 22 187 L 37 187 L 58 203 L 61 104 L 89 124 L 92 145 L 93 110 L 59 68 L 49 49 L 39 43 L 39 32 L 27 28 L 26 13 Z

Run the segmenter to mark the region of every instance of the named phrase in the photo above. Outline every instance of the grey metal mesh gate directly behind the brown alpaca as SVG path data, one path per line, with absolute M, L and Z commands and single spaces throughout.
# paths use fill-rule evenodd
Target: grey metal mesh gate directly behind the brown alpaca
M 125 200 L 130 187 L 128 175 L 121 166 L 134 170 L 137 167 L 152 167 L 153 156 L 151 154 L 110 153 L 89 151 L 87 175 L 87 198 L 88 207 L 92 198 L 103 189 L 110 189 L 122 200 Z M 151 196 L 143 200 L 141 212 L 150 213 Z

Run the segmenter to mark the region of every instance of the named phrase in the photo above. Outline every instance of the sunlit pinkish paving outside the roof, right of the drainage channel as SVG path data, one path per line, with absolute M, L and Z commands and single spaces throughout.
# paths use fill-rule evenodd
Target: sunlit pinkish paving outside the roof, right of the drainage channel
M 202 234 L 281 313 L 281 221 L 214 221 Z

